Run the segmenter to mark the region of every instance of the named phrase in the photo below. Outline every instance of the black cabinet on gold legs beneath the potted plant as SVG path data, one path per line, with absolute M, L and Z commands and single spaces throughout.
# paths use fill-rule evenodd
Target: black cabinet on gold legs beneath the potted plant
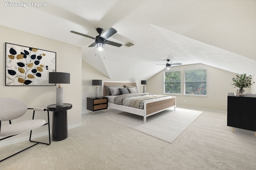
M 256 131 L 256 95 L 228 93 L 228 126 Z

